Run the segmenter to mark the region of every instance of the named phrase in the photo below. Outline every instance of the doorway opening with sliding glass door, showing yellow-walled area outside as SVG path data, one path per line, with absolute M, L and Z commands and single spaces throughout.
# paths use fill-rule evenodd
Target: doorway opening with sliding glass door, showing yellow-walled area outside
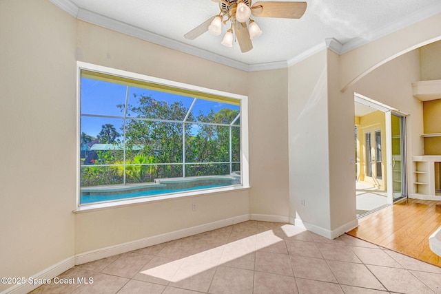
M 357 217 L 407 198 L 405 115 L 355 95 Z

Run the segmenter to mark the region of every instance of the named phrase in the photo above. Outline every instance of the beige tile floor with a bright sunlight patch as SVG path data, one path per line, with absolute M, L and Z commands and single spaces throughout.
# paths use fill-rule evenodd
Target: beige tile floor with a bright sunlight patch
M 341 235 L 248 221 L 75 266 L 31 293 L 441 293 L 441 268 Z

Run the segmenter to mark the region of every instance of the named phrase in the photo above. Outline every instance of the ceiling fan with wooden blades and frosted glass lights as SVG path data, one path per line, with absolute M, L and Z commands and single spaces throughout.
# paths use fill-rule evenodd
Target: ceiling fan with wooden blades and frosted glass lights
M 230 22 L 230 28 L 223 37 L 222 45 L 233 46 L 234 34 L 245 53 L 253 49 L 252 39 L 256 39 L 262 31 L 250 17 L 277 17 L 284 19 L 300 19 L 305 13 L 306 2 L 258 1 L 252 6 L 252 0 L 212 0 L 219 3 L 220 12 L 201 23 L 184 35 L 185 39 L 194 40 L 209 31 L 218 36 L 222 33 L 222 23 Z M 247 24 L 248 21 L 248 24 Z

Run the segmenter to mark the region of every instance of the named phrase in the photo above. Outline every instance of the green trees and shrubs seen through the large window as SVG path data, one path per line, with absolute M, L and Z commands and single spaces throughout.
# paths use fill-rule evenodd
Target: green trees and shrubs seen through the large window
M 84 184 L 109 185 L 127 182 L 152 182 L 154 178 L 172 178 L 183 175 L 183 119 L 188 108 L 182 102 L 157 101 L 152 96 L 134 95 L 136 103 L 127 105 L 125 125 L 125 152 L 123 150 L 99 151 L 99 162 L 115 164 L 102 167 L 106 179 L 98 170 L 84 169 Z M 117 105 L 124 111 L 124 105 Z M 229 174 L 229 163 L 205 164 L 203 162 L 229 162 L 229 136 L 232 134 L 232 159 L 240 161 L 240 127 L 230 127 L 238 110 L 229 108 L 187 116 L 185 123 L 185 175 L 209 176 Z M 159 121 L 158 121 L 159 120 Z M 167 121 L 165 121 L 167 120 Z M 201 124 L 192 125 L 198 121 Z M 207 123 L 207 124 L 203 124 Z M 238 125 L 239 122 L 236 122 Z M 113 125 L 103 125 L 98 138 L 101 143 L 114 144 L 120 134 Z M 125 155 L 125 162 L 123 156 Z M 170 165 L 167 165 L 170 163 Z M 125 164 L 125 169 L 124 169 Z M 236 165 L 237 167 L 238 165 Z M 98 167 L 96 167 L 98 168 Z M 238 170 L 238 168 L 236 169 Z M 90 178 L 88 178 L 90 176 Z

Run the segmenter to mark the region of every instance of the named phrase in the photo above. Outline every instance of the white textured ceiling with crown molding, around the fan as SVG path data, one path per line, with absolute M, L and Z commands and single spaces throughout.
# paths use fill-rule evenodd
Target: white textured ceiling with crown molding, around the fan
M 345 52 L 441 12 L 440 0 L 306 0 L 307 10 L 301 19 L 255 17 L 263 34 L 253 41 L 253 50 L 241 53 L 237 43 L 233 48 L 220 45 L 223 34 L 212 36 L 206 32 L 194 41 L 183 37 L 189 30 L 218 14 L 218 3 L 214 1 L 51 1 L 70 10 L 79 19 L 204 58 L 238 63 L 237 67 L 289 63 L 313 48 L 324 46 L 325 39 L 331 38 L 341 43 Z M 130 32 L 132 29 L 133 32 Z M 223 32 L 226 30 L 224 25 Z

